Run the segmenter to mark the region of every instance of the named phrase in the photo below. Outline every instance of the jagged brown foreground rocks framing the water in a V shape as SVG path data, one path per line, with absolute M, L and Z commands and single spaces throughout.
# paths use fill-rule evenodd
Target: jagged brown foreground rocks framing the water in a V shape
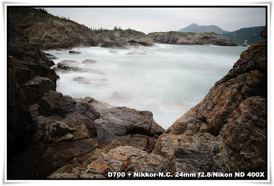
M 42 42 L 44 35 L 34 42 L 26 31 L 35 25 L 30 15 L 18 27 L 23 24 L 20 14 L 25 14 L 21 9 L 10 10 L 8 24 L 8 179 L 108 178 L 108 172 L 266 172 L 266 42 L 242 52 L 203 101 L 164 131 L 150 111 L 56 92 L 58 75 L 40 49 L 73 45 Z M 77 33 L 86 38 L 86 32 Z M 90 37 L 74 44 L 101 41 L 96 34 Z M 88 42 L 92 39 L 97 42 Z

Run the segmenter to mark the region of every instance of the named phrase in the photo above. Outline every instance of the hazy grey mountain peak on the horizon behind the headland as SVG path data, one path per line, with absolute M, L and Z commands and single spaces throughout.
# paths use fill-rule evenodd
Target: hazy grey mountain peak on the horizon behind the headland
M 227 32 L 227 31 L 224 31 L 223 29 L 217 27 L 216 25 L 199 26 L 195 23 L 189 25 L 188 27 L 185 27 L 184 29 L 180 29 L 179 31 L 182 31 L 182 32 L 195 32 L 195 33 L 214 32 L 216 34 L 223 34 L 223 33 Z

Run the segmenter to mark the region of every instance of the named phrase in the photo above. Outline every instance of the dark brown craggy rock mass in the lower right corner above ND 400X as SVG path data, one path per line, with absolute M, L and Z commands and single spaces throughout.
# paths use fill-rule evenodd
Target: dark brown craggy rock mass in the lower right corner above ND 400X
M 233 150 L 233 172 L 266 171 L 266 99 L 253 96 L 242 101 L 221 136 Z

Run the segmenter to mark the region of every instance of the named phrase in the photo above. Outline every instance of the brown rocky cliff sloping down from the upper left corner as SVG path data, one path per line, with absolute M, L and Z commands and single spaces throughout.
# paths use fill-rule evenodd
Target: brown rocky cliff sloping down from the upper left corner
M 25 39 L 40 49 L 90 47 L 103 42 L 84 25 L 33 8 L 8 8 L 8 19 L 9 27 L 20 30 Z

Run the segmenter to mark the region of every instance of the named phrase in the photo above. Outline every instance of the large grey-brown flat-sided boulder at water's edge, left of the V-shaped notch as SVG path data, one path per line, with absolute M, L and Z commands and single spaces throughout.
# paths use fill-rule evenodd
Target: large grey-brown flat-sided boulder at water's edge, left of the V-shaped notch
M 152 118 L 150 111 L 137 111 L 127 107 L 98 110 L 101 118 L 95 120 L 97 139 L 109 143 L 126 134 L 142 134 L 158 137 L 164 132 Z

